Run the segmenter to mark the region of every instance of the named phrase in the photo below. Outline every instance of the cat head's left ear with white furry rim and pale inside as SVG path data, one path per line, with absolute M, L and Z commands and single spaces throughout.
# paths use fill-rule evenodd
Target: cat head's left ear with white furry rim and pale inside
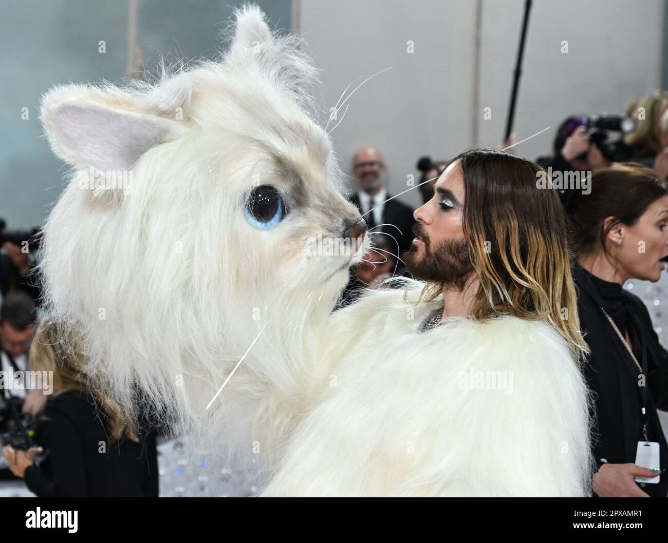
M 41 121 L 53 152 L 79 168 L 128 171 L 155 145 L 176 139 L 178 121 L 156 115 L 120 91 L 81 85 L 51 89 L 41 102 Z

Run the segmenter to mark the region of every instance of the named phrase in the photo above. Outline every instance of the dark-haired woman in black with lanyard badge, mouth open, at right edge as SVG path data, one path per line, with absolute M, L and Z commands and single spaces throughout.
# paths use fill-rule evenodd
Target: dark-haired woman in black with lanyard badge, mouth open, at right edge
M 668 353 L 645 304 L 623 286 L 629 279 L 657 282 L 661 276 L 661 259 L 668 255 L 668 189 L 653 170 L 619 163 L 593 175 L 591 193 L 578 194 L 569 217 L 578 314 L 591 349 L 585 376 L 595 399 L 594 491 L 602 497 L 665 497 L 668 476 L 637 466 L 637 454 L 658 451 L 661 470 L 668 464 L 657 416 L 657 408 L 668 408 Z M 647 479 L 637 483 L 635 477 Z

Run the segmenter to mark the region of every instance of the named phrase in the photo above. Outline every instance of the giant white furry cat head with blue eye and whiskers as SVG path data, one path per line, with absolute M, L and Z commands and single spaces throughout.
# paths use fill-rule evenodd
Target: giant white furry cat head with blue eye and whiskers
M 43 97 L 51 147 L 73 166 L 44 229 L 50 310 L 120 400 L 139 384 L 199 418 L 263 328 L 247 371 L 292 394 L 292 346 L 315 345 L 366 249 L 297 45 L 245 7 L 220 61 Z M 347 253 L 313 245 L 345 236 Z

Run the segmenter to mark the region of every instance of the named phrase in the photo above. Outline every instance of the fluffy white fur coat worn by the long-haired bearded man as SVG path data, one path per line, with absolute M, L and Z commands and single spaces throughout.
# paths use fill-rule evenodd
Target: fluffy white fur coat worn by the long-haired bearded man
M 589 494 L 587 391 L 560 334 L 510 316 L 421 334 L 438 304 L 387 290 L 333 314 L 331 376 L 265 496 Z

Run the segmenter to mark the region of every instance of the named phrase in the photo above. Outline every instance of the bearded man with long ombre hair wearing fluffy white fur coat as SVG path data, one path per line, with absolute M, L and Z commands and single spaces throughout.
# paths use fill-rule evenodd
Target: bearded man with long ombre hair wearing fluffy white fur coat
M 496 150 L 450 163 L 404 254 L 422 281 L 335 312 L 338 390 L 266 495 L 591 493 L 587 346 L 564 211 L 540 171 Z

